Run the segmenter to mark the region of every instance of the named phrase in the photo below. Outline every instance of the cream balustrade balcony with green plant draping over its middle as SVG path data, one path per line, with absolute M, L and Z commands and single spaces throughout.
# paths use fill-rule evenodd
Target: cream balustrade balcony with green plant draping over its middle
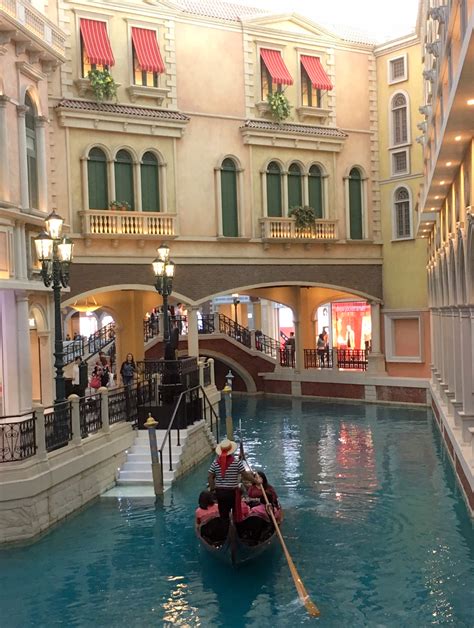
M 316 220 L 314 227 L 297 229 L 294 218 L 261 218 L 262 240 L 265 242 L 304 242 L 335 241 L 337 236 L 337 220 Z

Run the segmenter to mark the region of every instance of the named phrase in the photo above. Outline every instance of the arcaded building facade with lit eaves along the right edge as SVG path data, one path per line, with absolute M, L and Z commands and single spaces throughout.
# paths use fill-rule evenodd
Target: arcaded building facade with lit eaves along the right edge
M 423 184 L 417 230 L 428 243 L 433 410 L 474 507 L 474 3 L 420 3 L 424 46 Z

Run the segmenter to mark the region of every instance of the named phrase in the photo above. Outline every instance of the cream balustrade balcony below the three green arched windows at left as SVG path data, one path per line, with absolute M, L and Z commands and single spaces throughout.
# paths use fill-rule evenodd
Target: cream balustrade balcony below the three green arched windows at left
M 176 237 L 176 215 L 161 212 L 89 209 L 80 212 L 85 237 Z

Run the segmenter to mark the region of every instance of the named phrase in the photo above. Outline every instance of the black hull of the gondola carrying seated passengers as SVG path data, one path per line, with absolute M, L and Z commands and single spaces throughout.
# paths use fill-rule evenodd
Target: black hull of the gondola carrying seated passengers
M 213 517 L 197 525 L 196 534 L 205 550 L 232 565 L 257 558 L 277 539 L 273 523 L 258 516 L 246 517 L 240 523 Z

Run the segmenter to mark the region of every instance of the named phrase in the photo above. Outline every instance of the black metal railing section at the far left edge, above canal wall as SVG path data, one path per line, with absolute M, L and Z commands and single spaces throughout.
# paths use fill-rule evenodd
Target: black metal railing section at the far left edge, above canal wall
M 8 421 L 8 419 L 16 420 Z M 36 454 L 35 422 L 36 415 L 34 412 L 2 417 L 0 422 L 0 463 L 18 462 Z

